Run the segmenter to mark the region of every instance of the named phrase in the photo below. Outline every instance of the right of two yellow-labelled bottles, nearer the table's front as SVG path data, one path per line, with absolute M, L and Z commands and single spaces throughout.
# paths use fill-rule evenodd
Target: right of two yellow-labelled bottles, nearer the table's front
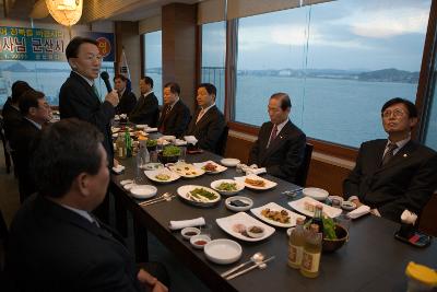
M 319 225 L 311 224 L 304 245 L 302 256 L 300 273 L 308 278 L 319 276 L 320 257 L 321 257 L 321 233 Z

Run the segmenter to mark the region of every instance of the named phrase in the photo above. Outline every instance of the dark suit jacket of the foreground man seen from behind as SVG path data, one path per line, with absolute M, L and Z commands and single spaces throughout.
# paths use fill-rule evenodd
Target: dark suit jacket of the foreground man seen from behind
M 20 291 L 141 291 L 121 241 L 103 223 L 31 197 L 11 225 L 7 275 Z

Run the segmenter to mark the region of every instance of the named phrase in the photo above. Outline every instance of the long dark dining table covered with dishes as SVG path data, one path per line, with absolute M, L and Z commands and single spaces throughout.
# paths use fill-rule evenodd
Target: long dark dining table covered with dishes
M 210 160 L 220 163 L 221 159 L 208 151 L 187 154 L 185 157 L 187 163 Z M 435 243 L 432 242 L 426 248 L 417 248 L 397 241 L 393 234 L 400 227 L 398 223 L 367 214 L 351 222 L 350 237 L 344 246 L 333 253 L 322 253 L 319 276 L 314 279 L 306 278 L 299 270 L 287 266 L 288 236 L 285 227 L 273 226 L 275 232 L 268 238 L 247 242 L 233 237 L 217 225 L 216 219 L 235 214 L 225 207 L 226 197 L 222 196 L 216 205 L 208 208 L 187 203 L 179 197 L 142 207 L 139 203 L 143 200 L 133 198 L 120 184 L 123 179 L 137 178 L 141 184 L 155 186 L 158 196 L 165 192 L 177 195 L 177 189 L 185 185 L 210 187 L 216 179 L 233 179 L 245 175 L 235 167 L 228 167 L 220 174 L 203 174 L 194 178 L 181 177 L 176 182 L 162 184 L 146 178 L 143 172 L 140 172 L 139 177 L 134 157 L 122 160 L 120 163 L 126 170 L 121 174 L 111 175 L 109 190 L 116 197 L 116 202 L 132 214 L 137 260 L 149 259 L 147 232 L 151 232 L 211 291 L 405 291 L 408 285 L 405 267 L 410 261 L 437 268 Z M 294 211 L 288 202 L 302 195 L 291 198 L 283 192 L 296 189 L 298 186 L 268 174 L 261 176 L 277 185 L 268 190 L 245 188 L 238 196 L 252 199 L 253 208 L 275 202 Z M 121 208 L 120 206 L 118 208 Z M 250 211 L 246 213 L 253 217 Z M 228 238 L 240 244 L 243 255 L 239 260 L 228 265 L 214 264 L 205 257 L 203 250 L 193 248 L 190 242 L 182 237 L 180 230 L 169 229 L 172 220 L 199 217 L 203 217 L 210 225 L 212 240 Z M 257 252 L 275 258 L 269 261 L 264 269 L 257 268 L 232 280 L 221 276 L 236 265 L 247 261 Z

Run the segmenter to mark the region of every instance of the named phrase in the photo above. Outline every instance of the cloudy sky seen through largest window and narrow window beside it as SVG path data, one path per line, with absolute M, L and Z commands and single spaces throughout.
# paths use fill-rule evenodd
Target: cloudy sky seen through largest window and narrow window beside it
M 244 17 L 238 69 L 420 71 L 429 7 L 430 0 L 339 0 Z M 203 66 L 223 66 L 224 24 L 203 32 Z

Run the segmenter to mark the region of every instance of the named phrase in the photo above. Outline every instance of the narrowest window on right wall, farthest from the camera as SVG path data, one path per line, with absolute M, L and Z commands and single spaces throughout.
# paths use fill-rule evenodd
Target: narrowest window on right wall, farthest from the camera
M 162 31 L 144 34 L 145 74 L 153 79 L 153 91 L 160 104 L 163 97 L 162 47 Z

